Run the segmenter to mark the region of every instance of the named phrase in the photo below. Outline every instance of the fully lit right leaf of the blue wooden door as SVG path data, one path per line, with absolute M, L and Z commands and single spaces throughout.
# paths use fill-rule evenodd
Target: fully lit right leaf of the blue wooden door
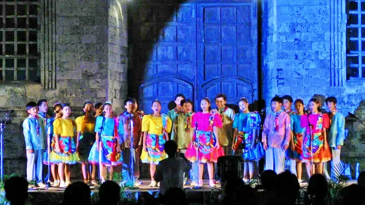
M 258 99 L 257 3 L 216 2 L 197 4 L 197 101 L 208 97 L 215 108 L 215 95 L 224 93 L 228 104 L 251 103 Z

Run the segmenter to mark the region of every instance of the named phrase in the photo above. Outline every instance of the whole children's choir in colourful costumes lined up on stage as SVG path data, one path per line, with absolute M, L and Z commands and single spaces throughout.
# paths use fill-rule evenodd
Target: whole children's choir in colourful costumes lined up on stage
M 26 105 L 29 116 L 23 122 L 27 179 L 44 187 L 43 180 L 47 179 L 42 176 L 42 163 L 48 165 L 50 162 L 53 186 L 67 187 L 70 165 L 81 163 L 84 182 L 90 185 L 97 184 L 96 166 L 101 166 L 102 181 L 105 181 L 106 167 L 109 167 L 111 180 L 113 167 L 122 166 L 123 180 L 130 181 L 133 177 L 134 185 L 139 186 L 140 159 L 150 164 L 149 186 L 155 187 L 159 185 L 154 180 L 156 165 L 167 158 L 164 144 L 168 140 L 175 141 L 179 153 L 192 162 L 192 186 L 202 186 L 204 163 L 207 163 L 209 186 L 215 186 L 213 163 L 223 155 L 243 156 L 245 181 L 253 177 L 253 162 L 264 156 L 266 170 L 277 173 L 284 171 L 284 161 L 288 159 L 290 171 L 299 181 L 302 162 L 306 164 L 309 176 L 323 173 L 324 163 L 332 157 L 332 167 L 340 162 L 345 118 L 336 109 L 335 97 L 325 100 L 329 112 L 323 113 L 316 98 L 308 102 L 306 111 L 301 99 L 294 101 L 293 110 L 292 97 L 275 96 L 271 100 L 272 112 L 267 113 L 263 125 L 261 113 L 251 112 L 246 98 L 238 102 L 240 113 L 227 107 L 224 94 L 216 96 L 215 109 L 211 109 L 209 98 L 201 99 L 201 111 L 197 113 L 193 112 L 193 102 L 183 94 L 177 94 L 174 101 L 176 107 L 165 115 L 161 113 L 160 101 L 154 100 L 152 114 L 145 115 L 138 111 L 134 98 L 127 98 L 124 101 L 126 111 L 118 117 L 114 117 L 111 103 L 94 106 L 87 101 L 83 105 L 85 114 L 76 120 L 69 117 L 69 104 L 56 103 L 50 117 L 47 100 L 42 99 L 38 104 L 29 102 Z M 260 140 L 258 131 L 261 128 Z M 92 165 L 91 173 L 89 164 Z

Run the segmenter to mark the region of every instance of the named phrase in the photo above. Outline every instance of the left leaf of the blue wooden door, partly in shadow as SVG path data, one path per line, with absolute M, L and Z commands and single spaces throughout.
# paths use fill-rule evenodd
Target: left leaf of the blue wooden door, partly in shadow
M 167 113 L 168 104 L 171 104 L 177 93 L 194 100 L 197 83 L 196 2 L 181 5 L 162 2 L 145 4 L 144 7 L 151 7 L 152 12 L 145 19 L 148 23 L 141 23 L 141 31 L 154 32 L 161 25 L 163 28 L 153 44 L 145 72 L 140 79 L 139 106 L 145 112 L 151 113 L 151 103 L 158 99 L 162 103 L 161 113 Z M 164 16 L 164 12 L 169 9 L 174 10 L 171 16 L 158 18 Z M 140 41 L 137 44 L 139 47 L 151 44 L 143 39 Z

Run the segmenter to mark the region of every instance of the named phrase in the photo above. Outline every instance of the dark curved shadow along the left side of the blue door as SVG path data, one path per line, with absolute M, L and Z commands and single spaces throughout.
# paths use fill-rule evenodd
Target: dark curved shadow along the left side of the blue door
M 153 2 L 153 4 L 151 3 Z M 128 95 L 138 99 L 138 84 L 147 72 L 154 45 L 173 13 L 185 0 L 136 0 L 128 4 Z M 160 4 L 161 3 L 161 4 Z

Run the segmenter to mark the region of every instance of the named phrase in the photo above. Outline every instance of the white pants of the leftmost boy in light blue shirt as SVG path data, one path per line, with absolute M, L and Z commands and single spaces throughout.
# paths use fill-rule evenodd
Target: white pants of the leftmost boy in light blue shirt
M 27 180 L 35 180 L 36 183 L 43 183 L 42 166 L 43 166 L 44 149 L 34 150 L 34 153 L 26 151 L 27 155 Z

